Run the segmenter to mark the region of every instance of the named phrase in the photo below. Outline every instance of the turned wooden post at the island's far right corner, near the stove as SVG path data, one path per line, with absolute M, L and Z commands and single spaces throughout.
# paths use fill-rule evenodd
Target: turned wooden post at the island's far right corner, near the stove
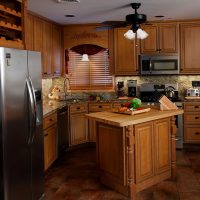
M 171 179 L 176 179 L 176 132 L 177 127 L 175 124 L 176 118 L 171 117 Z

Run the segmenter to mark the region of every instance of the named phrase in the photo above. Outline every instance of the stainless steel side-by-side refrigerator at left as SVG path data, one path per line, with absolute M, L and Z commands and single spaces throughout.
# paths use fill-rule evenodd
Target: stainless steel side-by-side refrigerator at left
M 0 47 L 0 78 L 0 199 L 42 199 L 40 53 Z

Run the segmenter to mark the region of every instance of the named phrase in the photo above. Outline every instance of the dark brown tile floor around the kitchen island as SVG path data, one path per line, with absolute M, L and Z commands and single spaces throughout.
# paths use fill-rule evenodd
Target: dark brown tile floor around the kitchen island
M 46 172 L 46 200 L 128 200 L 103 186 L 95 169 L 95 148 L 67 152 Z M 200 200 L 200 145 L 177 150 L 177 179 L 137 194 L 137 200 Z

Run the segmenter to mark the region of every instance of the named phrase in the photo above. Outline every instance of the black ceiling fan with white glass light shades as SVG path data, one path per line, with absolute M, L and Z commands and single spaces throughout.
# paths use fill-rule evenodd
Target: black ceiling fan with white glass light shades
M 131 26 L 131 29 L 124 34 L 127 39 L 135 39 L 136 37 L 139 39 L 145 39 L 148 34 L 140 28 L 140 24 L 146 22 L 147 17 L 145 14 L 139 14 L 137 12 L 138 8 L 141 6 L 141 3 L 131 3 L 128 6 L 131 6 L 135 10 L 135 13 L 126 15 L 125 21 L 104 21 L 101 23 L 102 26 L 96 27 L 96 30 L 103 31 L 113 28 Z

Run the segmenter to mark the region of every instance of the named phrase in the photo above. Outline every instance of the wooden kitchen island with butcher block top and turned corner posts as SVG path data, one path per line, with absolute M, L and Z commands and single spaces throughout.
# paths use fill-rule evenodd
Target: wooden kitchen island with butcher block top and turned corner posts
M 97 169 L 103 184 L 130 197 L 176 175 L 175 115 L 183 110 L 125 115 L 90 113 L 96 122 Z

